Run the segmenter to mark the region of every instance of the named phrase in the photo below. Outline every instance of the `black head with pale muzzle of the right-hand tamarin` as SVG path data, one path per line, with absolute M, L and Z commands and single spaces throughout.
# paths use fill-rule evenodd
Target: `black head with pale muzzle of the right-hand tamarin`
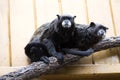
M 107 27 L 105 27 L 105 26 L 103 26 L 101 24 L 96 24 L 94 22 L 91 22 L 90 26 L 88 27 L 88 31 L 91 34 L 93 34 L 93 35 L 95 35 L 95 36 L 97 36 L 99 38 L 104 38 L 105 37 L 107 29 L 108 29 Z

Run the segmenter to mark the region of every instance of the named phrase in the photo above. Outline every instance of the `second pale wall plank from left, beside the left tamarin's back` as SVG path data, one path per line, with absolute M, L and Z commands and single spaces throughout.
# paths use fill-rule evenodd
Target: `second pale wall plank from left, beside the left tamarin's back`
M 27 65 L 24 47 L 34 29 L 32 0 L 10 0 L 11 65 Z

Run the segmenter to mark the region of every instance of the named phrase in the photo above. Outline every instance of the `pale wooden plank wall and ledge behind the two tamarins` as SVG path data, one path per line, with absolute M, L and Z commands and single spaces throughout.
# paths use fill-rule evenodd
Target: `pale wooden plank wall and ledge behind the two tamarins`
M 28 65 L 25 45 L 35 29 L 56 14 L 76 15 L 81 24 L 104 24 L 107 37 L 120 35 L 120 0 L 0 0 L 0 75 Z M 74 65 L 58 74 L 120 73 L 120 48 L 97 52 Z

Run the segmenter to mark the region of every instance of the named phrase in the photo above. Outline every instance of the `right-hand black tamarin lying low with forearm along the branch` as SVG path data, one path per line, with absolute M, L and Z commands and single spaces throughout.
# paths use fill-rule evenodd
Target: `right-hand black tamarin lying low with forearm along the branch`
M 74 41 L 71 42 L 74 45 L 70 46 L 70 48 L 76 49 L 63 49 L 63 51 L 65 51 L 65 53 L 80 56 L 88 56 L 92 54 L 94 52 L 92 47 L 103 39 L 106 30 L 108 29 L 107 27 L 94 22 L 91 22 L 90 25 L 76 24 L 76 27 Z

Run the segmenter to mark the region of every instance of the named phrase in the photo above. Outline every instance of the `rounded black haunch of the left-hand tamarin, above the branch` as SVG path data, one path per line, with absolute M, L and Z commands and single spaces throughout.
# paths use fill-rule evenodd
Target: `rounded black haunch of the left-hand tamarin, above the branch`
M 49 57 L 46 46 L 42 43 L 37 42 L 27 44 L 27 46 L 25 47 L 25 53 L 31 59 L 31 62 L 42 60 L 44 55 L 48 55 Z M 45 62 L 47 63 L 49 61 L 47 60 Z

